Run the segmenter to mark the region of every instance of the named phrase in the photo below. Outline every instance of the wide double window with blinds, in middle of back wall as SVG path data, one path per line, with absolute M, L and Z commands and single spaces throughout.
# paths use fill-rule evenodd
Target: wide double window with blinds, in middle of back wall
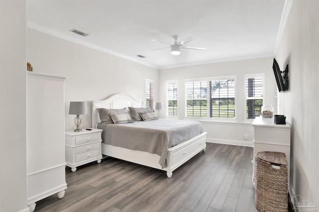
M 186 116 L 235 118 L 235 77 L 186 80 Z

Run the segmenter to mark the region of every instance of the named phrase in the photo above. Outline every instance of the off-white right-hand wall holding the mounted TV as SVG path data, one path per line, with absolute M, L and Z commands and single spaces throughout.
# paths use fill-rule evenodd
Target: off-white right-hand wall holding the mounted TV
M 290 87 L 281 93 L 281 112 L 291 132 L 291 186 L 319 206 L 319 1 L 294 0 L 277 61 L 289 64 Z

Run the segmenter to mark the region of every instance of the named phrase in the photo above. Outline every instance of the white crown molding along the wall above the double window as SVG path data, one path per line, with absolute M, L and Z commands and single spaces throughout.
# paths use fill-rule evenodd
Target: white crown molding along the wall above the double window
M 274 53 L 266 53 L 266 54 L 259 54 L 259 55 L 247 55 L 247 56 L 240 56 L 240 57 L 233 57 L 233 58 L 221 58 L 216 60 L 209 60 L 209 61 L 200 61 L 195 63 L 187 63 L 187 64 L 178 64 L 172 66 L 161 66 L 159 69 L 171 69 L 171 68 L 178 68 L 178 67 L 185 67 L 185 66 L 197 66 L 197 65 L 204 65 L 204 64 L 213 64 L 213 63 L 224 63 L 224 62 L 231 62 L 231 61 L 242 61 L 242 60 L 250 60 L 250 59 L 258 59 L 258 58 L 269 58 L 274 57 Z

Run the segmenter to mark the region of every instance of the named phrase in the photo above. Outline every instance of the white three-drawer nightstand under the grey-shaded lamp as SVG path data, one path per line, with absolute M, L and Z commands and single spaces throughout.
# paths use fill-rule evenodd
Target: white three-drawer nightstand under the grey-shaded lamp
M 65 162 L 72 172 L 76 167 L 96 160 L 101 162 L 101 134 L 103 130 L 83 129 L 82 132 L 65 132 Z

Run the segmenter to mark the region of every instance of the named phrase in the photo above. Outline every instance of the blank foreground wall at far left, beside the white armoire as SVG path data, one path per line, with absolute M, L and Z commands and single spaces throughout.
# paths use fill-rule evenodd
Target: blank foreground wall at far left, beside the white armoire
M 0 0 L 0 20 L 0 211 L 26 212 L 26 1 Z

